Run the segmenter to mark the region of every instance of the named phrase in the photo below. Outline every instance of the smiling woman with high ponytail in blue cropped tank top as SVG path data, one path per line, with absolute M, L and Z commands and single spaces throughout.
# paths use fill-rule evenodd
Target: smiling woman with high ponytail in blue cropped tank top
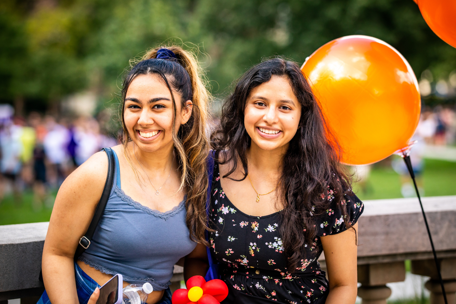
M 73 261 L 104 189 L 105 152 L 64 181 L 44 244 L 46 287 L 38 303 L 95 304 L 98 287 L 120 273 L 124 286 L 152 284 L 148 304 L 171 304 L 173 266 L 206 243 L 207 103 L 192 52 L 160 46 L 128 72 L 122 87 L 122 144 L 90 246 Z

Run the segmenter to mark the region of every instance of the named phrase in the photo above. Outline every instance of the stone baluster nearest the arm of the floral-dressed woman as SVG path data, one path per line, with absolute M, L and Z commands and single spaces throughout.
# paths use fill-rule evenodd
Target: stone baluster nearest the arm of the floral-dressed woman
M 391 289 L 386 283 L 405 280 L 404 262 L 358 265 L 358 296 L 363 304 L 386 304 Z

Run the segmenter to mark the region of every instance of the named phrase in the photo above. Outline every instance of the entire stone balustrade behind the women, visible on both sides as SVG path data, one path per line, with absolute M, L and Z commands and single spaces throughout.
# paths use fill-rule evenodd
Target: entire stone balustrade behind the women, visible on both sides
M 363 304 L 385 304 L 391 294 L 386 283 L 405 279 L 404 260 L 411 272 L 429 276 L 425 287 L 431 304 L 443 296 L 416 198 L 365 201 L 359 219 L 358 296 Z M 423 205 L 434 238 L 449 304 L 456 304 L 456 196 L 424 197 Z M 44 290 L 38 279 L 47 222 L 0 226 L 0 304 L 21 298 L 34 304 Z M 325 268 L 324 256 L 320 263 Z M 179 288 L 182 267 L 175 266 L 171 288 Z

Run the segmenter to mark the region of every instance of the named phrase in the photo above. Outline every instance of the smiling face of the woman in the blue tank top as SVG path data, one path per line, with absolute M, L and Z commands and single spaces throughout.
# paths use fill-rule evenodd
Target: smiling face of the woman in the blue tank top
M 181 106 L 181 95 L 173 91 L 176 100 L 176 132 L 187 123 L 192 107 Z M 187 100 L 186 105 L 192 102 Z M 130 82 L 124 100 L 124 123 L 133 142 L 145 152 L 171 149 L 173 102 L 163 78 L 156 74 L 140 75 Z

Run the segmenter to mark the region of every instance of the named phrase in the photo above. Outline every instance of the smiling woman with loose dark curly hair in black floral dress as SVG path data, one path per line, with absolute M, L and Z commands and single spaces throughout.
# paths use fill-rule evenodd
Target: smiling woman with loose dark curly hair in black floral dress
M 239 79 L 212 133 L 209 249 L 223 304 L 355 303 L 363 203 L 335 142 L 295 62 L 270 59 Z

